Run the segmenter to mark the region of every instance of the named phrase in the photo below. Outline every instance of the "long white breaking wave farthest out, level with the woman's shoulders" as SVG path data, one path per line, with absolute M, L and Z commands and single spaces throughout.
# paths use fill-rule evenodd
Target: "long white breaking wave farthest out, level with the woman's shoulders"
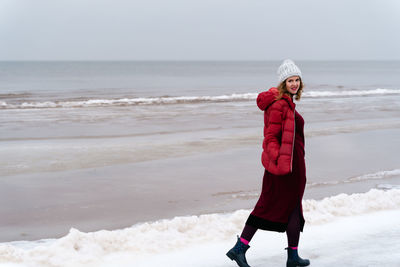
M 319 97 L 349 97 L 400 94 L 399 89 L 374 89 L 374 90 L 342 90 L 342 91 L 305 91 L 305 98 Z M 29 108 L 79 108 L 79 107 L 103 107 L 103 106 L 132 106 L 132 105 L 165 105 L 186 103 L 218 103 L 255 100 L 258 93 L 242 93 L 218 96 L 161 96 L 138 97 L 121 99 L 88 99 L 88 100 L 59 100 L 44 102 L 7 103 L 0 101 L 2 109 L 29 109 Z

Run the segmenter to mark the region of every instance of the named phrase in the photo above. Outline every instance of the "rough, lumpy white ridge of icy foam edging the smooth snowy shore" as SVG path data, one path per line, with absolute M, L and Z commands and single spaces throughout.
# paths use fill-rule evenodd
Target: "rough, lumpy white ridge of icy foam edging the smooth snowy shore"
M 371 189 L 367 193 L 339 194 L 303 202 L 305 219 L 311 225 L 331 222 L 344 216 L 399 209 L 399 206 L 400 189 Z M 152 255 L 179 251 L 188 245 L 232 238 L 242 229 L 249 212 L 238 210 L 229 214 L 175 217 L 114 231 L 84 233 L 71 229 L 69 234 L 60 239 L 0 244 L 0 263 L 88 266 L 95 263 L 96 259 L 113 253 Z

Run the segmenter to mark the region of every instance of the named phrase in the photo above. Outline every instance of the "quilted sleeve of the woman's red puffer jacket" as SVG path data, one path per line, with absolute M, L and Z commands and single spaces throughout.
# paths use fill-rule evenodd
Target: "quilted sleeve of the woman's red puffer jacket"
M 268 157 L 277 161 L 282 138 L 283 107 L 280 101 L 270 107 L 268 124 L 265 131 L 266 152 Z

